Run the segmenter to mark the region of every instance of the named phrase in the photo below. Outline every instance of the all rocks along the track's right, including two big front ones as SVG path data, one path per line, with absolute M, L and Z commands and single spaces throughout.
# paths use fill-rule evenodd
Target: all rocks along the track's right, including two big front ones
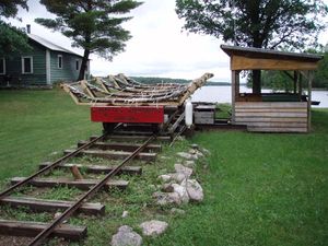
M 161 206 L 166 204 L 181 204 L 189 201 L 200 202 L 203 200 L 203 190 L 200 184 L 190 178 L 195 172 L 197 161 L 209 154 L 207 150 L 199 150 L 197 144 L 192 144 L 188 152 L 179 152 L 177 156 L 183 161 L 174 165 L 175 173 L 164 174 L 159 176 L 164 184 L 161 191 L 153 194 L 156 203 Z M 185 211 L 173 208 L 171 210 L 174 214 L 184 214 Z M 128 216 L 128 212 L 124 211 L 122 218 Z M 139 225 L 143 236 L 159 236 L 163 234 L 168 224 L 164 221 L 145 221 Z M 134 232 L 130 226 L 122 225 L 118 232 L 113 236 L 112 246 L 140 246 L 142 245 L 142 237 Z

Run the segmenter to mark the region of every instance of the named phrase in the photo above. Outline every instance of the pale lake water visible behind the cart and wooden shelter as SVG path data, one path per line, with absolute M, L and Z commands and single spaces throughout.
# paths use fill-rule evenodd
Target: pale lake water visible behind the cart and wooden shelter
M 246 86 L 241 86 L 241 93 L 251 92 Z M 271 90 L 262 90 L 268 93 Z M 191 97 L 192 102 L 231 103 L 231 86 L 202 86 Z M 328 91 L 313 91 L 312 99 L 319 101 L 320 105 L 313 107 L 328 107 Z

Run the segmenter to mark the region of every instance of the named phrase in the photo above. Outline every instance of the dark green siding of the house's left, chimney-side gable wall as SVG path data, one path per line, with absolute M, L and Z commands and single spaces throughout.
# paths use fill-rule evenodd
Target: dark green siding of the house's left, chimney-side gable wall
M 30 45 L 33 47 L 33 51 L 16 55 L 12 58 L 5 57 L 5 74 L 0 75 L 1 84 L 7 84 L 7 75 L 11 78 L 10 85 L 28 86 L 46 84 L 46 49 L 34 42 Z M 22 57 L 33 57 L 33 73 L 22 73 Z

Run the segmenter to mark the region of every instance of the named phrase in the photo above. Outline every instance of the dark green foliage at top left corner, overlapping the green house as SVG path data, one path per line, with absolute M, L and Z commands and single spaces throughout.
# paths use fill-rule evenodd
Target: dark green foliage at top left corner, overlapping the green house
M 27 36 L 23 30 L 5 23 L 2 19 L 15 17 L 19 7 L 28 10 L 27 0 L 11 0 L 0 2 L 0 57 L 11 56 L 31 49 Z

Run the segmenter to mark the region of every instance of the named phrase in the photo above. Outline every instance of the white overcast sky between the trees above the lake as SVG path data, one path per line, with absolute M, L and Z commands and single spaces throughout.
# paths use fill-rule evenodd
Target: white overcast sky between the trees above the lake
M 66 48 L 70 39 L 60 33 L 36 24 L 35 17 L 52 17 L 38 0 L 28 0 L 30 11 L 20 10 L 22 22 L 12 21 L 16 26 L 32 25 L 32 33 Z M 204 72 L 214 73 L 214 81 L 230 81 L 229 57 L 220 49 L 221 40 L 181 31 L 184 22 L 175 13 L 175 0 L 143 0 L 143 4 L 131 12 L 132 20 L 124 26 L 133 36 L 126 51 L 106 61 L 91 56 L 93 75 L 126 73 L 127 75 L 168 77 L 196 79 Z M 325 0 L 328 4 L 328 0 Z M 324 33 L 320 43 L 328 43 Z M 83 50 L 73 49 L 79 54 Z

